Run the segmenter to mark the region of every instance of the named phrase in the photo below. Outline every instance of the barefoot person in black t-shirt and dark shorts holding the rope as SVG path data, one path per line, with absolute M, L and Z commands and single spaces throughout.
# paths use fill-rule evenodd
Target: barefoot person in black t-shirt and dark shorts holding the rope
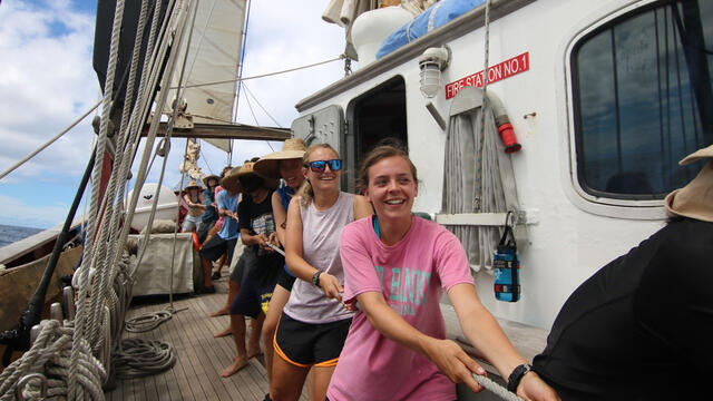
M 241 239 L 245 245 L 243 253 L 252 253 L 255 262 L 252 266 L 247 263 L 243 264 L 243 268 L 240 268 L 238 263 L 231 273 L 231 280 L 241 283 L 237 296 L 229 307 L 237 356 L 221 372 L 223 378 L 243 369 L 251 358 L 260 354 L 260 333 L 265 319 L 264 312 L 267 310 L 277 275 L 284 264 L 284 257 L 270 246 L 277 244 L 271 199 L 272 192 L 279 182 L 255 174 L 253 163 L 245 163 L 235 178 L 236 185 L 243 192 L 243 200 L 237 206 Z M 245 316 L 256 322 L 247 344 L 245 344 Z

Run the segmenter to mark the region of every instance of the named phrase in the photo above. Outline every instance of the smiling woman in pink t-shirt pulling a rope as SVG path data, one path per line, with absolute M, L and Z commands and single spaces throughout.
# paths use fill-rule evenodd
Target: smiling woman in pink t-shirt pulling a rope
M 359 311 L 332 375 L 329 400 L 452 401 L 453 382 L 480 391 L 471 374 L 485 370 L 446 340 L 439 307 L 443 291 L 468 340 L 502 378 L 510 378 L 519 395 L 558 400 L 528 371 L 480 303 L 456 236 L 411 214 L 418 180 L 406 151 L 375 148 L 364 159 L 359 180 L 375 216 L 342 231 L 343 299 L 356 302 Z

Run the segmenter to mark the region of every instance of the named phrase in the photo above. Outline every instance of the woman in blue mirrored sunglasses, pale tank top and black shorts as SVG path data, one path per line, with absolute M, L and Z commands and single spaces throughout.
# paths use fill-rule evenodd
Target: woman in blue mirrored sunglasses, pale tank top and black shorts
M 342 228 L 371 216 L 363 196 L 339 189 L 342 160 L 328 144 L 304 154 L 305 183 L 290 202 L 285 253 L 297 276 L 274 339 L 270 394 L 296 400 L 314 366 L 312 394 L 323 400 L 349 332 L 352 312 L 342 304 L 344 273 L 339 256 Z

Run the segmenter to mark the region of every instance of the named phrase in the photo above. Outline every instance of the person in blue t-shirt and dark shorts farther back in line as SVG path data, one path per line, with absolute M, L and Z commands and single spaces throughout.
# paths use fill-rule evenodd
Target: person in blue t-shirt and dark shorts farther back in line
M 238 173 L 240 168 L 235 167 L 225 174 L 221 180 L 221 185 L 225 190 L 221 190 L 216 199 L 218 204 L 218 216 L 223 218 L 223 225 L 221 226 L 221 231 L 207 239 L 198 252 L 203 265 L 204 291 L 207 293 L 215 293 L 212 274 L 213 266 L 211 262 L 217 261 L 224 254 L 227 254 L 227 260 L 229 261 L 233 257 L 233 251 L 240 237 L 236 213 L 241 192 L 237 182 Z

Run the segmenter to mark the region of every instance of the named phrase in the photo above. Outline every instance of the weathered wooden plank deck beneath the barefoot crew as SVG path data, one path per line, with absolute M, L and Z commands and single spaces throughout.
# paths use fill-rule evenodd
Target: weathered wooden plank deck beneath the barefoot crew
M 196 296 L 182 295 L 174 300 L 178 312 L 157 329 L 146 333 L 125 333 L 124 339 L 143 338 L 167 341 L 176 349 L 176 365 L 164 373 L 141 379 L 117 380 L 116 389 L 106 392 L 107 400 L 263 400 L 268 390 L 267 373 L 262 355 L 234 375 L 223 379 L 219 372 L 236 355 L 232 336 L 214 339 L 213 333 L 223 330 L 228 316 L 209 317 L 225 303 L 227 277 L 215 282 L 217 292 Z M 162 311 L 160 303 L 140 302 L 133 306 L 129 316 Z M 247 325 L 250 334 L 250 325 Z M 263 349 L 264 349 L 264 344 Z M 306 401 L 303 391 L 301 401 Z

